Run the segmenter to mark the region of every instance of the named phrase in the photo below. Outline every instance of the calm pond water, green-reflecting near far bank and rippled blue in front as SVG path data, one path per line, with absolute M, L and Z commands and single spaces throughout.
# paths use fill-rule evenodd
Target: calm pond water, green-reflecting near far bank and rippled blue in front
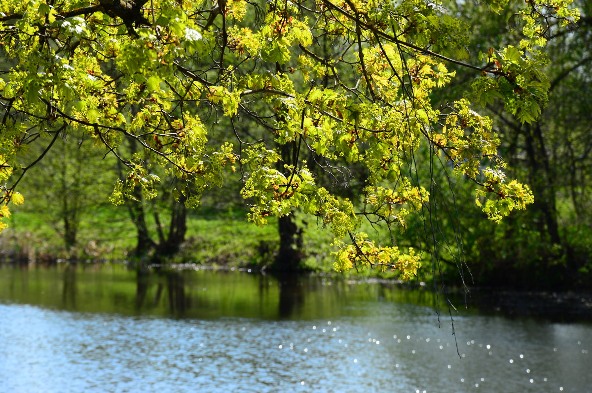
M 590 392 L 592 326 L 428 291 L 121 265 L 0 267 L 0 392 Z

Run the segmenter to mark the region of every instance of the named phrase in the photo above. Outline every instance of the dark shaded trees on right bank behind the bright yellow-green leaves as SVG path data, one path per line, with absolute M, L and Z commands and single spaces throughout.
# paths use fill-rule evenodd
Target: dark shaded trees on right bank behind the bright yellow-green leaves
M 447 244 L 445 238 L 455 239 L 455 230 L 469 229 L 456 233 L 456 238 L 462 238 L 464 260 L 473 273 L 469 281 L 476 284 L 554 290 L 590 285 L 592 216 L 587 206 L 591 202 L 591 163 L 590 147 L 585 141 L 590 123 L 590 98 L 586 92 L 590 86 L 588 15 L 592 9 L 588 2 L 576 5 L 581 12 L 577 29 L 561 30 L 555 24 L 549 25 L 549 41 L 543 51 L 549 57 L 545 74 L 551 87 L 538 122 L 522 124 L 504 112 L 504 103 L 499 100 L 481 111 L 494 121 L 509 176 L 521 178 L 532 187 L 533 206 L 499 225 L 488 225 L 470 206 L 470 184 L 463 186 L 450 179 L 455 191 L 452 195 L 446 179 L 436 179 L 436 183 L 444 184 L 432 195 L 443 213 L 437 222 L 441 259 L 456 271 L 457 264 L 449 254 L 450 248 L 457 245 Z M 466 15 L 470 21 L 473 28 L 468 48 L 474 53 L 480 47 L 497 47 L 518 39 L 520 32 L 511 21 L 519 7 L 514 4 L 499 15 L 491 15 L 472 2 L 464 2 L 451 11 Z M 469 77 L 456 78 L 446 92 L 436 93 L 436 102 L 445 105 L 451 97 L 466 94 L 470 83 Z M 446 212 L 452 216 L 447 217 Z M 421 228 L 422 223 L 409 226 Z M 410 233 L 413 230 L 407 230 Z M 426 247 L 426 239 L 419 237 L 399 235 L 395 241 L 419 249 Z

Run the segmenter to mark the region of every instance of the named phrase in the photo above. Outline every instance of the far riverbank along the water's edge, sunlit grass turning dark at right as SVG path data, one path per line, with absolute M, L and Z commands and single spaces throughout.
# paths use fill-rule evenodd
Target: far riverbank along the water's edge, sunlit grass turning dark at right
M 121 207 L 121 206 L 120 206 Z M 152 215 L 147 215 L 147 227 L 149 235 L 156 239 L 157 228 Z M 182 243 L 179 251 L 166 259 L 156 259 L 147 254 L 143 257 L 134 256 L 137 246 L 137 230 L 128 218 L 124 209 L 114 206 L 99 207 L 92 216 L 85 216 L 78 228 L 77 243 L 66 248 L 60 226 L 50 224 L 40 218 L 36 211 L 15 210 L 10 220 L 10 227 L 0 235 L 0 260 L 56 263 L 57 261 L 83 261 L 83 262 L 118 262 L 128 261 L 134 264 L 189 264 L 200 267 L 214 267 L 226 269 L 252 269 L 252 271 L 265 271 L 275 261 L 279 249 L 279 235 L 277 222 L 270 219 L 269 225 L 259 228 L 247 222 L 245 213 L 233 210 L 201 209 L 192 212 L 187 219 L 186 241 Z M 330 246 L 332 236 L 328 230 L 320 228 L 317 223 L 298 222 L 302 229 L 303 261 L 301 271 L 314 272 L 316 274 L 337 275 L 333 271 L 333 258 Z M 380 238 L 381 234 L 374 229 L 363 228 L 365 232 L 372 233 Z M 374 231 L 374 232 L 373 232 Z M 387 235 L 382 233 L 382 239 Z M 416 250 L 422 249 L 414 245 Z M 423 247 L 427 249 L 427 246 Z M 445 255 L 446 256 L 446 255 Z M 450 287 L 461 285 L 459 269 L 464 271 L 466 285 L 488 285 L 497 291 L 507 290 L 546 290 L 553 293 L 561 290 L 569 293 L 570 290 L 590 290 L 592 281 L 585 285 L 574 285 L 567 280 L 568 275 L 555 275 L 548 272 L 554 280 L 541 284 L 537 280 L 513 280 L 516 274 L 514 269 L 525 267 L 514 262 L 504 262 L 497 268 L 496 275 L 488 273 L 488 269 L 496 263 L 496 260 L 485 261 L 485 264 L 469 262 L 473 275 L 468 274 L 466 266 L 455 261 L 442 261 L 439 266 L 432 268 L 429 252 L 423 252 L 423 267 L 419 270 L 419 277 L 411 284 L 419 285 L 419 282 L 427 282 L 433 287 L 433 272 L 436 272 L 437 281 L 445 281 Z M 552 264 L 554 271 L 560 271 L 565 261 Z M 487 268 L 484 269 L 484 267 Z M 441 274 L 439 270 L 441 269 Z M 559 269 L 559 270 L 558 270 Z M 394 272 L 379 272 L 377 269 L 352 269 L 345 274 L 346 277 L 373 277 L 388 280 L 397 278 Z M 590 275 L 590 272 L 581 271 L 580 275 Z M 584 278 L 580 281 L 586 282 Z M 507 297 L 512 298 L 512 295 Z M 492 305 L 497 307 L 496 304 Z M 501 306 L 500 306 L 501 307 Z M 506 307 L 506 304 L 503 305 Z M 528 308 L 528 307 L 526 307 Z

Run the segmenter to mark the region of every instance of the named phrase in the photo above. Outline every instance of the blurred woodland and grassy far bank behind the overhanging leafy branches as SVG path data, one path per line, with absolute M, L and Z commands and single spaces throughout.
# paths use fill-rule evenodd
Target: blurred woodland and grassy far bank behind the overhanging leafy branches
M 497 287 L 561 289 L 590 288 L 592 283 L 592 124 L 591 48 L 592 4 L 576 4 L 581 17 L 574 31 L 551 30 L 544 48 L 550 59 L 545 69 L 550 80 L 549 102 L 537 122 L 529 124 L 504 113 L 501 104 L 487 102 L 484 114 L 494 121 L 500 135 L 500 155 L 510 178 L 529 184 L 535 202 L 525 211 L 513 212 L 499 223 L 484 219 L 474 206 L 474 184 L 445 173 L 430 173 L 429 151 L 417 152 L 422 176 L 441 176 L 450 184 L 432 194 L 439 214 L 432 218 L 441 244 L 459 239 L 462 259 L 448 256 L 446 247 L 438 263 L 429 261 L 434 237 L 426 237 L 425 216 L 413 216 L 407 230 L 394 232 L 394 242 L 426 254 L 417 281 L 434 275 L 452 284 Z M 451 2 L 451 9 L 473 28 L 468 53 L 484 47 L 503 47 L 518 34 L 513 10 L 495 13 L 474 2 Z M 451 66 L 454 70 L 454 66 Z M 474 76 L 454 79 L 440 98 L 442 103 L 461 99 Z M 36 147 L 33 147 L 36 148 Z M 121 147 L 133 151 L 132 143 Z M 33 155 L 41 154 L 32 151 Z M 422 158 L 423 157 L 423 158 Z M 348 184 L 334 183 L 346 196 L 363 186 L 354 173 Z M 157 168 L 155 168 L 157 171 Z M 224 188 L 204 193 L 201 205 L 188 209 L 172 193 L 175 180 L 163 181 L 159 196 L 115 206 L 109 196 L 114 181 L 125 180 L 127 171 L 113 155 L 76 135 L 63 135 L 52 150 L 27 172 L 19 191 L 26 203 L 14 208 L 9 228 L 0 235 L 5 258 L 136 261 L 146 263 L 215 264 L 231 267 L 281 268 L 281 220 L 259 228 L 248 223 L 248 210 L 238 190 L 240 181 L 225 179 Z M 229 192 L 229 190 L 236 190 Z M 453 203 L 452 203 L 453 201 Z M 295 213 L 288 223 L 291 248 L 298 267 L 330 272 L 333 236 L 322 222 Z M 365 231 L 377 238 L 390 233 L 365 223 Z M 468 269 L 467 269 L 468 268 Z M 469 272 L 470 271 L 470 272 Z M 459 274 L 460 273 L 460 274 Z M 349 274 L 356 274 L 352 272 Z M 359 274 L 382 274 L 366 269 Z

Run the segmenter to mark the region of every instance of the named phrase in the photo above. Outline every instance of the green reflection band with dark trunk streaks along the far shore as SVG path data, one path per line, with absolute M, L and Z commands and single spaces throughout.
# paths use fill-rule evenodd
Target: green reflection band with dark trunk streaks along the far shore
M 211 319 L 314 319 L 343 313 L 350 301 L 398 301 L 433 306 L 435 295 L 390 284 L 326 278 L 172 270 L 125 265 L 0 267 L 0 300 L 70 311 Z

